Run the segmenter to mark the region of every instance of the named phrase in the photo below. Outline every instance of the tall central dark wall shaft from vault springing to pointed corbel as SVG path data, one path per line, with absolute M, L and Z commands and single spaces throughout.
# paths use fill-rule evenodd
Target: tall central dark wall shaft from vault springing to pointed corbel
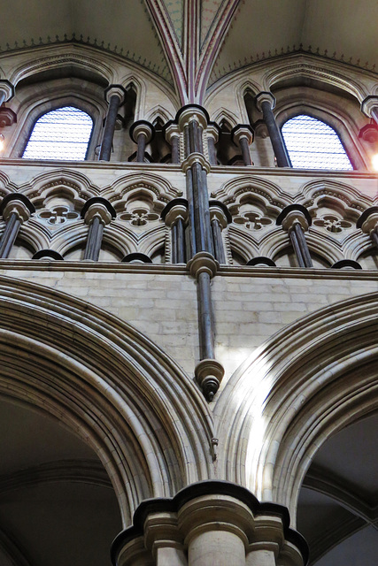
M 198 333 L 200 362 L 195 375 L 204 396 L 212 401 L 218 391 L 224 369 L 215 360 L 214 322 L 210 282 L 217 272 L 214 257 L 212 225 L 210 220 L 207 173 L 210 164 L 204 158 L 203 136 L 209 117 L 197 104 L 184 106 L 177 113 L 176 121 L 183 134 L 185 160 L 182 163 L 187 179 L 189 204 L 189 234 L 192 258 L 189 261 L 191 275 L 197 279 Z

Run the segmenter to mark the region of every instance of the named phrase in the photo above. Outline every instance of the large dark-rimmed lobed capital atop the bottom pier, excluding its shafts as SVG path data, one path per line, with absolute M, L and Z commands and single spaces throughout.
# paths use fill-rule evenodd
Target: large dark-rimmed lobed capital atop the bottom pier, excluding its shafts
M 207 562 L 201 564 L 209 564 L 221 552 L 220 531 L 235 535 L 247 553 L 273 551 L 275 559 L 288 566 L 304 566 L 308 561 L 305 539 L 289 528 L 286 507 L 260 503 L 248 489 L 232 482 L 204 480 L 184 487 L 173 498 L 143 501 L 135 510 L 133 525 L 114 539 L 112 563 L 114 566 L 150 564 L 151 554 L 146 548 L 153 552 L 154 547 L 165 545 L 190 547 L 193 540 L 207 534 L 205 540 L 211 542 L 214 535 L 214 547 L 206 547 Z M 138 562 L 142 556 L 146 562 Z M 243 561 L 244 556 L 243 552 Z

